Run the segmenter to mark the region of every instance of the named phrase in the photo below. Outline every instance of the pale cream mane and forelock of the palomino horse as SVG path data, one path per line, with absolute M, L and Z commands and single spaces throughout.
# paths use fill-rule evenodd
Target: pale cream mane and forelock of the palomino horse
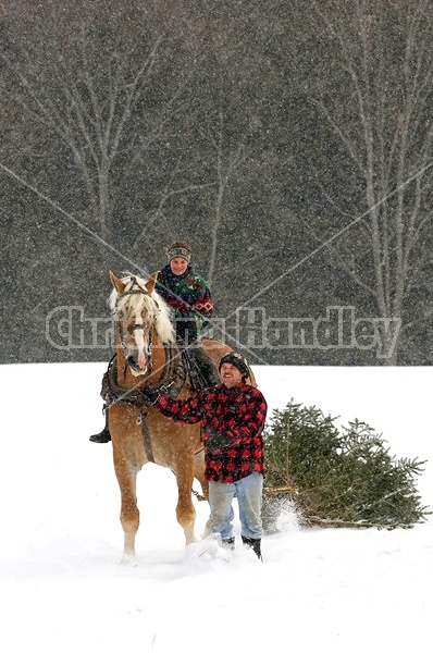
M 162 343 L 173 343 L 175 341 L 174 328 L 171 321 L 171 309 L 166 301 L 156 291 L 148 293 L 146 281 L 136 274 L 128 274 L 122 278 L 125 284 L 124 295 L 120 296 L 113 288 L 109 297 L 109 306 L 113 315 L 117 312 L 133 311 L 137 315 L 146 311 L 148 315 L 154 315 L 154 328 Z M 127 294 L 127 291 L 138 284 L 144 293 Z

